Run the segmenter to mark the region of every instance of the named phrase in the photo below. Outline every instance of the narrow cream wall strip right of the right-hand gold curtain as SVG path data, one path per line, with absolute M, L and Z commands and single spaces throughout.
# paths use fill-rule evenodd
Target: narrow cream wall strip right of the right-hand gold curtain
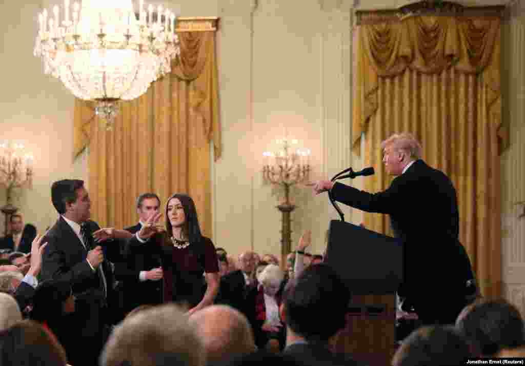
M 503 119 L 510 148 L 501 156 L 503 282 L 505 297 L 525 314 L 525 3 L 514 1 L 502 28 Z

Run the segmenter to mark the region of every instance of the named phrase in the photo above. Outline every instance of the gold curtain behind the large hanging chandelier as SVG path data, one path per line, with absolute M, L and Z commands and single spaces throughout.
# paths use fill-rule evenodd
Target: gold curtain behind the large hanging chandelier
M 121 104 L 113 130 L 75 103 L 75 153 L 89 143 L 91 216 L 101 226 L 137 223 L 134 202 L 157 193 L 164 209 L 173 193 L 188 193 L 203 234 L 211 236 L 210 141 L 220 157 L 215 32 L 182 32 L 172 73 L 140 98 Z

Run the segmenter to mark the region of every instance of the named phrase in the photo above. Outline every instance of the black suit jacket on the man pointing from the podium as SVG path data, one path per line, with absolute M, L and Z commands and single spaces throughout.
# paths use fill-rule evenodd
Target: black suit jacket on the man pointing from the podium
M 443 172 L 417 160 L 383 192 L 372 194 L 335 183 L 330 194 L 359 210 L 390 215 L 395 236 L 404 244 L 401 295 L 423 301 L 425 295 L 446 291 L 448 300 L 454 301 L 464 290 L 456 190 Z

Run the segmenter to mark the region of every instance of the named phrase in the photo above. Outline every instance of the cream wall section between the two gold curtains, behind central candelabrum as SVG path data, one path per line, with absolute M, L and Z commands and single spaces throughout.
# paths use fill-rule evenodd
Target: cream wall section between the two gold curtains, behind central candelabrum
M 286 129 L 312 151 L 312 179 L 348 167 L 351 2 L 221 3 L 218 33 L 224 155 L 214 170 L 214 239 L 232 254 L 280 254 L 282 194 L 264 184 L 262 152 Z M 313 253 L 335 218 L 326 195 L 292 191 L 292 247 L 312 229 Z M 346 219 L 352 219 L 345 209 Z

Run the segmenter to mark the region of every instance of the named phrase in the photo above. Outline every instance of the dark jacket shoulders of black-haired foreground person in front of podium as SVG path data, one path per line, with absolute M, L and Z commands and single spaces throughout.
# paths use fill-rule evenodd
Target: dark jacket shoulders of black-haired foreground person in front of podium
M 286 347 L 285 354 L 302 366 L 353 366 L 359 365 L 356 361 L 343 354 L 332 353 L 328 348 L 318 344 L 296 343 Z

